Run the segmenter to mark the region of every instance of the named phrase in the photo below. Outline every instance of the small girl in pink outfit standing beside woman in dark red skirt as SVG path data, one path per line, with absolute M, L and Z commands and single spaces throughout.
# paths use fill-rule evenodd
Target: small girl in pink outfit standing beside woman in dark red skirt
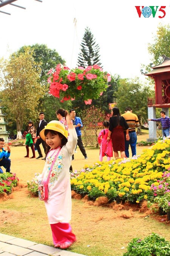
M 100 144 L 100 157 L 99 157 L 100 162 L 103 161 L 103 157 L 105 155 L 107 155 L 107 161 L 110 161 L 110 157 L 113 157 L 113 149 L 112 149 L 111 140 L 107 141 L 108 131 L 109 131 L 108 127 L 109 127 L 109 122 L 104 121 L 103 130 L 101 130 L 101 132 L 99 133 L 99 136 L 98 136 L 98 142 Z

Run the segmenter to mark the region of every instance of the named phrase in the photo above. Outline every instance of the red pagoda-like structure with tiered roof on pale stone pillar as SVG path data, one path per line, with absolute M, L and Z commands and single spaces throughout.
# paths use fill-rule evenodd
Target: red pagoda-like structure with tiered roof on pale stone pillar
M 148 75 L 155 80 L 155 99 L 148 98 L 148 119 L 156 118 L 156 108 L 162 108 L 165 115 L 169 117 L 170 107 L 170 58 L 162 55 L 164 59 L 161 64 L 152 67 L 152 70 L 144 75 Z M 149 122 L 149 139 L 155 141 L 156 122 Z

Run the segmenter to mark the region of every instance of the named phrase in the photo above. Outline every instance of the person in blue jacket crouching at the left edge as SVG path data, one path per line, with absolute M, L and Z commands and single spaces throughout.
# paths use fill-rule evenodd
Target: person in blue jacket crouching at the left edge
M 3 166 L 6 169 L 6 173 L 10 173 L 11 159 L 9 156 L 11 154 L 11 149 L 8 144 L 5 144 L 5 140 L 0 138 L 0 166 Z M 3 173 L 3 170 L 0 168 L 0 173 Z

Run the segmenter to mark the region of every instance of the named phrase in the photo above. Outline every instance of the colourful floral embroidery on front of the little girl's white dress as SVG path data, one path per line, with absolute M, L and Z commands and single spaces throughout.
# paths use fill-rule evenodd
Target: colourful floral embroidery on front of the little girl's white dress
M 54 158 L 55 158 L 55 155 L 54 155 L 54 157 L 49 157 L 46 160 L 48 173 L 49 173 L 49 170 L 51 168 L 51 164 L 52 164 Z M 49 177 L 50 187 L 49 187 L 48 195 L 51 195 L 51 189 L 52 189 L 52 187 L 54 187 L 54 183 L 58 180 L 58 178 L 60 176 L 60 173 L 61 173 L 62 168 L 63 168 L 63 163 L 62 163 L 63 158 L 64 158 L 63 154 L 59 155 L 57 157 L 55 163 L 54 163 L 53 169 L 51 170 L 51 174 L 50 174 L 50 177 Z M 48 176 L 48 173 L 47 173 L 47 176 Z

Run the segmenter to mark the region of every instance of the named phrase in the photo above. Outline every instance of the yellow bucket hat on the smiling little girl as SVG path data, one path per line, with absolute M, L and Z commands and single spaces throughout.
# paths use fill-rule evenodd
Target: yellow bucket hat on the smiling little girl
M 56 132 L 60 132 L 64 137 L 68 138 L 68 131 L 65 130 L 65 126 L 59 121 L 53 120 L 49 122 L 43 130 L 40 131 L 40 137 L 45 141 L 45 130 L 53 130 Z

